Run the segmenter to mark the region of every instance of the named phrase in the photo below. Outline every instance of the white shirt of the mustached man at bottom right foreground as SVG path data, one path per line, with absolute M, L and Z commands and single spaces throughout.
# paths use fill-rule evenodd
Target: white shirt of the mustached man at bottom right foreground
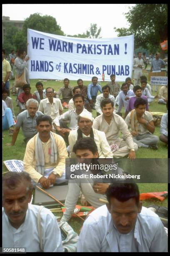
M 142 207 L 132 232 L 116 230 L 103 205 L 87 216 L 77 243 L 77 252 L 167 252 L 168 236 L 155 212 Z

